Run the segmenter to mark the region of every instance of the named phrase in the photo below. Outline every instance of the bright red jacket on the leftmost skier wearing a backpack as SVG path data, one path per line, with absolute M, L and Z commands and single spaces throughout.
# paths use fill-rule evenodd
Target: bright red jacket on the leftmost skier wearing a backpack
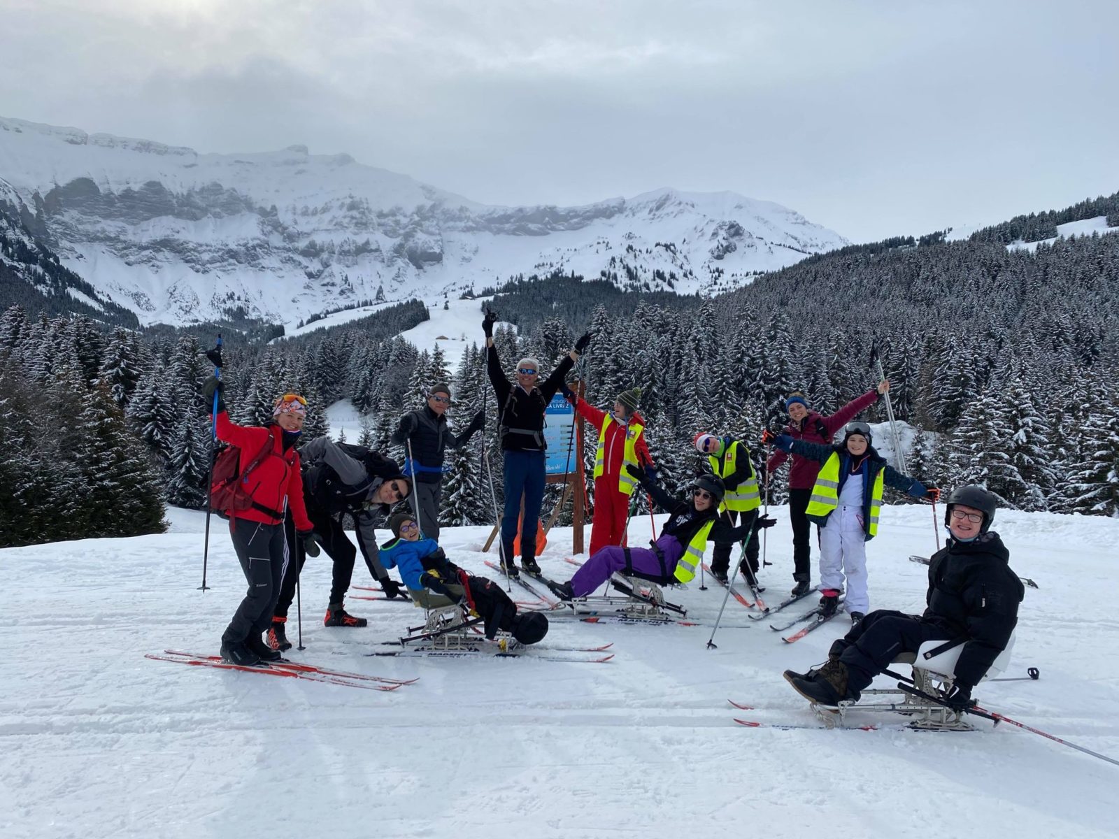
M 258 425 L 234 425 L 229 422 L 229 415 L 222 411 L 217 415 L 217 436 L 218 440 L 224 440 L 241 450 L 237 460 L 239 472 L 253 462 L 267 443 L 269 430 Z M 274 436 L 272 454 L 252 471 L 245 490 L 256 503 L 270 510 L 282 511 L 286 501 L 295 520 L 295 529 L 311 530 L 314 526 L 307 518 L 307 507 L 303 503 L 303 477 L 299 471 L 299 452 L 294 447 L 283 451 L 282 436 L 280 434 Z M 237 518 L 260 521 L 263 525 L 279 524 L 272 516 L 255 508 L 238 510 Z

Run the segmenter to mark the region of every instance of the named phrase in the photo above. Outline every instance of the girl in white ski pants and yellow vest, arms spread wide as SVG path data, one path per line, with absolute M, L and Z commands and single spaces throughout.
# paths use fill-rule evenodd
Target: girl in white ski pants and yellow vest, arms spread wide
M 767 431 L 762 442 L 782 452 L 792 452 L 824 465 L 808 501 L 807 516 L 820 526 L 820 606 L 830 618 L 839 606 L 847 583 L 847 611 L 858 623 L 871 609 L 866 591 L 866 543 L 878 532 L 882 488 L 888 483 L 915 498 L 935 501 L 940 490 L 901 474 L 871 445 L 871 426 L 847 423 L 844 441 L 834 446 L 793 440 L 788 434 Z

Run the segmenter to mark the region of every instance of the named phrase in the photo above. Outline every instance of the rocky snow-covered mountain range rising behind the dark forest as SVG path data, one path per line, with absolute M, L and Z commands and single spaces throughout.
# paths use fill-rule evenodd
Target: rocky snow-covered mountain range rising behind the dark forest
M 301 145 L 203 154 L 4 117 L 0 195 L 67 267 L 144 323 L 292 321 L 556 271 L 716 291 L 847 244 L 731 192 L 492 207 Z

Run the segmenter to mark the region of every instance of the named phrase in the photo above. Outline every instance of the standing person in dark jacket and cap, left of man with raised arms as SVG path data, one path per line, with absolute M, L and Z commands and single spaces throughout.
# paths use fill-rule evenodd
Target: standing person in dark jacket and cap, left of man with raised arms
M 461 434 L 451 431 L 446 409 L 451 405 L 451 389 L 443 384 L 427 392 L 427 404 L 401 417 L 391 442 L 411 445 L 411 456 L 405 459 L 404 474 L 415 480 L 420 525 L 424 536 L 439 538 L 439 506 L 443 496 L 443 455 L 448 447 L 466 445 L 474 432 L 481 431 L 486 414 L 479 411 Z M 407 449 L 405 451 L 408 451 Z

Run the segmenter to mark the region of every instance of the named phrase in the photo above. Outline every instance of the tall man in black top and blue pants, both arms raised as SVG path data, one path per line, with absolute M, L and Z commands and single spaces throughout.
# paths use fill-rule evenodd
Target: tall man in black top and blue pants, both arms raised
M 493 324 L 497 312 L 486 310 L 482 331 L 486 333 L 486 366 L 490 384 L 497 394 L 498 435 L 505 462 L 505 512 L 501 517 L 501 567 L 509 576 L 517 576 L 513 544 L 517 537 L 517 522 L 521 518 L 524 499 L 524 525 L 520 534 L 521 567 L 529 574 L 539 574 L 536 564 L 536 528 L 544 501 L 545 455 L 544 412 L 552 397 L 564 383 L 567 371 L 579 360 L 580 353 L 591 342 L 591 333 L 584 332 L 574 349 L 568 352 L 544 381 L 539 381 L 540 362 L 526 357 L 517 362 L 516 384 L 509 381 L 501 370 L 501 359 L 493 346 Z

